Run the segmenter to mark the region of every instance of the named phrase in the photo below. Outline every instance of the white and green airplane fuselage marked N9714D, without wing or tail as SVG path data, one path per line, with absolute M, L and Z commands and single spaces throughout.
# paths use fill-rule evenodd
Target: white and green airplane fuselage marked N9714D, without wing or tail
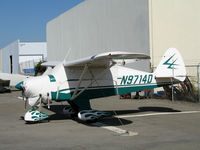
M 80 97 L 84 97 L 84 93 L 87 93 L 87 97 L 90 99 L 151 89 L 157 86 L 153 73 L 123 66 L 113 66 L 101 77 L 96 78 L 104 69 L 89 68 L 80 83 L 82 68 L 64 68 L 62 65 L 58 65 L 50 75 L 26 79 L 23 83 L 24 93 L 30 100 L 33 98 L 32 101 L 36 101 L 40 95 L 43 99 L 49 95 L 50 99 L 59 101 L 71 100 L 78 84 L 80 84 L 78 91 L 89 85 Z M 30 101 L 29 104 L 33 105 L 34 102 Z

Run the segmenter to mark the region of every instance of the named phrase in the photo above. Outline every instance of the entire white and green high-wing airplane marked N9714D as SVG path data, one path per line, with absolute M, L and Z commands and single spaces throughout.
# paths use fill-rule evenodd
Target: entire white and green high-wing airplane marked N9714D
M 185 65 L 175 48 L 166 51 L 153 73 L 123 66 L 129 60 L 149 58 L 140 53 L 106 52 L 75 61 L 43 63 L 43 66 L 54 68 L 16 85 L 22 90 L 25 104 L 32 107 L 26 112 L 24 120 L 37 122 L 48 118 L 40 111 L 42 103 L 49 108 L 52 101 L 67 101 L 70 107 L 63 109 L 65 114 L 76 114 L 80 120 L 94 121 L 108 113 L 92 110 L 91 99 L 171 85 L 172 80 L 173 83 L 185 80 Z

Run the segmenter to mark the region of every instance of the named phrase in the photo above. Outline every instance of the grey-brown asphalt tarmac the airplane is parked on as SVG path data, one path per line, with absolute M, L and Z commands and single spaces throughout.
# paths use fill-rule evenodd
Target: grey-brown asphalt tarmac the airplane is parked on
M 159 99 L 91 101 L 114 117 L 83 123 L 62 114 L 67 103 L 53 103 L 49 122 L 26 124 L 20 92 L 0 95 L 0 150 L 199 150 L 200 104 Z

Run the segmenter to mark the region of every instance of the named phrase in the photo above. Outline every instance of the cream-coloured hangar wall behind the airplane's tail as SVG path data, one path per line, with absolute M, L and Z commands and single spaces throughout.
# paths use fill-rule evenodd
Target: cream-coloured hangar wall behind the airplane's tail
M 149 0 L 150 52 L 152 68 L 169 47 L 177 48 L 190 79 L 197 79 L 200 63 L 200 1 Z

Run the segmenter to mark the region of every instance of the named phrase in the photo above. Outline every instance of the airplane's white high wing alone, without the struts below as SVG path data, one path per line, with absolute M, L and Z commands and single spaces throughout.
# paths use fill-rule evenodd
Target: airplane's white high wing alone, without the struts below
M 131 53 L 131 52 L 106 52 L 101 53 L 98 55 L 74 60 L 74 61 L 64 61 L 63 65 L 65 67 L 82 67 L 86 64 L 88 67 L 107 67 L 111 63 L 126 63 L 125 60 L 144 60 L 144 59 L 150 59 L 150 56 L 142 54 L 142 53 Z M 127 61 L 127 62 L 133 62 L 133 61 Z M 56 66 L 59 64 L 59 62 L 45 62 L 42 64 L 42 66 Z

